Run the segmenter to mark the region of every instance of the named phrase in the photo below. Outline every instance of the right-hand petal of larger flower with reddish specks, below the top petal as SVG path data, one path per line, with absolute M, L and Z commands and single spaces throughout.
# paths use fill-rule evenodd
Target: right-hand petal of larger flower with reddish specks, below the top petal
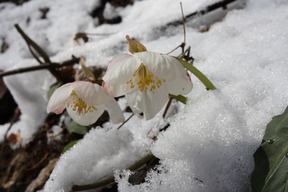
M 166 84 L 168 92 L 173 95 L 187 95 L 193 88 L 193 83 L 187 71 L 185 71 L 181 77 L 174 81 L 169 81 Z

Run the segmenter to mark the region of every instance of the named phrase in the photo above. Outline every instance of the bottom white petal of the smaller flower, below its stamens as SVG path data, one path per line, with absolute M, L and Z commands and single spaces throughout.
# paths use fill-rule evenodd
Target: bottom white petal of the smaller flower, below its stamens
M 82 126 L 88 126 L 95 123 L 98 118 L 103 114 L 105 107 L 104 105 L 95 106 L 97 110 L 93 110 L 93 112 L 88 112 L 86 114 L 78 114 L 76 111 L 73 111 L 72 107 L 67 107 L 66 110 L 70 117 Z

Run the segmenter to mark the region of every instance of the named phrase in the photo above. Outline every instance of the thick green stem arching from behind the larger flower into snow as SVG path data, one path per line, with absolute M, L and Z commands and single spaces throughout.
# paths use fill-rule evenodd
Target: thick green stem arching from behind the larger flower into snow
M 216 87 L 213 85 L 213 83 L 211 83 L 211 81 L 201 71 L 196 69 L 196 67 L 194 67 L 193 65 L 191 65 L 187 61 L 179 59 L 178 57 L 174 57 L 174 58 L 176 58 L 186 69 L 191 71 L 205 85 L 207 90 L 216 89 Z

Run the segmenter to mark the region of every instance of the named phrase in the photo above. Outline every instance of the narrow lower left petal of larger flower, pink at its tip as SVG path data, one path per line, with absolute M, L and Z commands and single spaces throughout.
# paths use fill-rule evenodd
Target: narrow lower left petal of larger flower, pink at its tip
M 137 90 L 137 86 L 134 86 L 133 88 L 131 88 L 130 84 L 123 84 L 117 87 L 114 86 L 110 86 L 109 84 L 103 82 L 102 83 L 102 89 L 104 91 L 104 93 L 106 93 L 107 95 L 110 95 L 112 97 L 120 97 L 126 94 L 130 94 L 133 91 Z

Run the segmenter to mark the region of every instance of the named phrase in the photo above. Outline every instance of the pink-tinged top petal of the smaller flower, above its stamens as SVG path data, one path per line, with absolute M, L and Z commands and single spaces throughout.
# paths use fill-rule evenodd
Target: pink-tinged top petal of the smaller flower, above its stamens
M 71 84 L 71 87 L 87 105 L 103 105 L 109 101 L 98 84 L 88 81 L 75 81 Z

